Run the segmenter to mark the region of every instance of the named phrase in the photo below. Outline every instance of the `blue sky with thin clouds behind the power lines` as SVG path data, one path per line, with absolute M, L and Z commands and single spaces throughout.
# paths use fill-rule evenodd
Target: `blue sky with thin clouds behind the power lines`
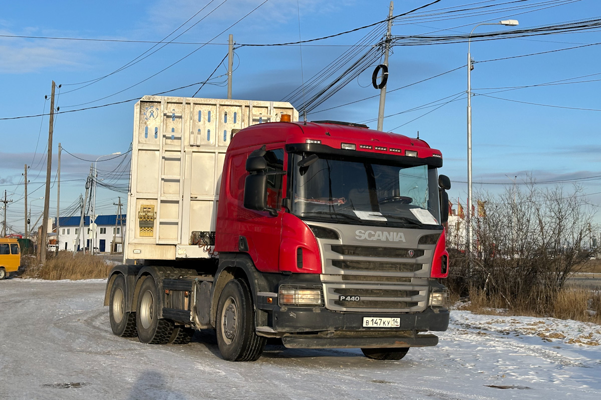
M 383 20 L 388 15 L 389 1 L 322 0 L 269 0 L 240 23 L 228 26 L 245 16 L 264 0 L 132 0 L 100 3 L 75 1 L 29 1 L 26 5 L 8 2 L 0 15 L 0 118 L 47 113 L 50 82 L 54 80 L 58 94 L 56 106 L 61 111 L 130 100 L 147 94 L 169 91 L 201 82 L 212 73 L 227 53 L 228 34 L 238 44 L 286 43 L 323 37 L 349 31 Z M 519 20 L 519 28 L 552 25 L 572 20 L 601 16 L 601 4 L 596 0 L 545 1 L 525 0 L 505 6 L 509 0 L 442 0 L 421 11 L 471 4 L 469 7 L 531 7 L 517 11 L 499 11 L 480 16 L 460 16 L 444 20 L 398 21 L 392 27 L 393 35 L 467 34 L 481 22 L 501 19 Z M 395 2 L 394 15 L 426 4 L 427 1 L 406 0 Z M 476 4 L 477 3 L 477 4 Z M 105 76 L 150 49 L 151 43 L 123 41 L 75 41 L 13 36 L 90 38 L 128 41 L 159 41 L 201 11 L 183 30 L 201 17 L 209 16 L 178 37 L 176 41 L 200 44 L 168 44 L 141 62 L 130 66 L 89 86 L 72 85 Z M 299 12 L 300 11 L 300 12 Z M 300 25 L 300 32 L 299 32 Z M 226 30 L 227 29 L 227 30 Z M 480 26 L 477 33 L 492 32 L 501 26 Z M 226 30 L 223 34 L 220 32 Z M 233 76 L 233 98 L 252 100 L 282 100 L 299 88 L 322 68 L 349 50 L 370 29 L 341 35 L 323 41 L 299 46 L 240 47 L 236 50 Z M 177 35 L 176 34 L 176 35 Z M 169 39 L 172 39 L 172 35 Z M 475 61 L 506 58 L 549 50 L 565 49 L 601 42 L 599 31 L 544 35 L 507 40 L 476 41 L 471 53 Z M 375 42 L 373 42 L 375 43 Z M 317 46 L 316 46 L 317 45 Z M 451 199 L 466 201 L 466 55 L 467 44 L 436 44 L 432 46 L 395 46 L 389 59 L 388 90 L 400 88 L 419 80 L 462 67 L 457 71 L 406 89 L 391 92 L 386 97 L 386 115 L 401 113 L 414 107 L 447 98 L 457 100 L 438 109 L 430 107 L 401 113 L 385 119 L 384 130 L 421 139 L 444 155 L 442 173 L 454 181 Z M 200 49 L 199 49 L 200 48 Z M 198 50 L 197 50 L 198 49 Z M 155 48 L 156 50 L 156 48 Z M 159 71 L 197 50 L 183 61 Z M 365 49 L 367 51 L 367 48 Z M 301 68 L 302 52 L 302 68 Z M 513 86 L 541 83 L 601 73 L 599 46 L 564 50 L 543 55 L 481 62 L 472 71 L 472 88 L 486 94 Z M 374 63 L 374 66 L 379 61 Z M 224 64 L 226 65 L 226 64 Z M 222 76 L 224 65 L 215 76 Z M 373 67 L 349 83 L 344 89 L 316 108 L 316 112 L 362 98 L 377 95 L 371 86 Z M 158 73 L 158 74 L 157 74 Z M 153 76 L 155 75 L 156 76 Z M 151 77 L 153 76 L 153 77 Z M 590 76 L 576 80 L 595 80 Z M 147 79 L 147 80 L 146 80 Z M 224 77 L 213 82 L 223 82 Z M 139 83 L 142 80 L 145 82 Z M 329 81 L 328 81 L 329 82 Z M 574 82 L 567 81 L 567 82 Z M 136 85 L 136 83 L 139 83 Z M 127 89 L 130 86 L 133 88 Z M 538 86 L 492 94 L 510 100 L 539 103 L 576 109 L 601 110 L 598 97 L 601 82 L 570 83 Z M 191 97 L 200 85 L 171 92 L 172 95 Z M 78 89 L 73 92 L 73 89 Z M 126 89 L 126 90 L 124 90 Z M 122 92 L 121 92 L 122 91 Z M 118 94 L 115 94 L 120 92 Z M 461 94 L 461 92 L 464 92 Z M 225 98 L 225 86 L 206 85 L 197 97 Z M 451 97 L 450 97 L 451 96 Z M 106 98 L 105 98 L 106 97 Z M 99 100 L 104 98 L 103 100 Z M 79 106 L 79 104 L 89 103 Z M 53 171 L 56 169 L 58 143 L 70 153 L 85 160 L 96 160 L 100 155 L 126 152 L 132 140 L 133 104 L 117 104 L 97 109 L 64 113 L 56 116 L 53 137 Z M 435 104 L 442 104 L 435 103 Z M 300 104 L 295 106 L 300 108 Z M 517 182 L 531 175 L 537 181 L 575 179 L 601 175 L 599 152 L 599 111 L 535 106 L 476 95 L 472 98 L 473 124 L 473 179 L 474 190 L 493 193 L 503 190 L 501 185 Z M 426 114 L 427 112 L 432 112 Z M 325 112 L 312 113 L 311 120 L 332 119 L 361 122 L 377 118 L 378 99 L 361 101 Z M 415 121 L 412 121 L 415 119 Z M 368 122 L 376 128 L 376 122 Z M 400 128 L 400 125 L 402 125 Z M 396 129 L 394 129 L 396 128 Z M 46 163 L 44 146 L 47 143 L 48 118 L 0 120 L 0 134 L 4 146 L 0 149 L 0 190 L 8 191 L 8 225 L 23 230 L 23 164 L 29 169 L 29 198 L 43 196 Z M 33 161 L 33 162 L 32 162 Z M 111 170 L 117 160 L 99 163 L 99 169 Z M 84 179 L 90 163 L 77 160 L 63 152 L 61 160 L 61 209 L 67 209 L 84 192 Z M 39 183 L 38 183 L 39 182 Z M 478 184 L 483 182 L 484 184 Z M 584 193 L 591 194 L 591 203 L 597 209 L 601 203 L 601 180 L 581 182 Z M 572 184 L 566 184 L 570 189 Z M 3 194 L 3 193 L 2 193 Z M 97 209 L 114 213 L 117 196 L 99 188 Z M 56 187 L 52 188 L 50 215 L 55 215 Z M 43 201 L 35 201 L 32 219 L 37 218 Z M 34 222 L 32 221 L 32 222 Z M 599 216 L 597 216 L 599 221 Z

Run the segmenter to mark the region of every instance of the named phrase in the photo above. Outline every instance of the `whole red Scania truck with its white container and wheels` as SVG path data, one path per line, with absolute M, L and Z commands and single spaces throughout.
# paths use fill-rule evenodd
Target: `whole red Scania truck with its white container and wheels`
M 291 122 L 289 103 L 142 98 L 135 107 L 124 264 L 112 331 L 222 357 L 361 348 L 401 359 L 448 327 L 450 181 L 419 139 Z

